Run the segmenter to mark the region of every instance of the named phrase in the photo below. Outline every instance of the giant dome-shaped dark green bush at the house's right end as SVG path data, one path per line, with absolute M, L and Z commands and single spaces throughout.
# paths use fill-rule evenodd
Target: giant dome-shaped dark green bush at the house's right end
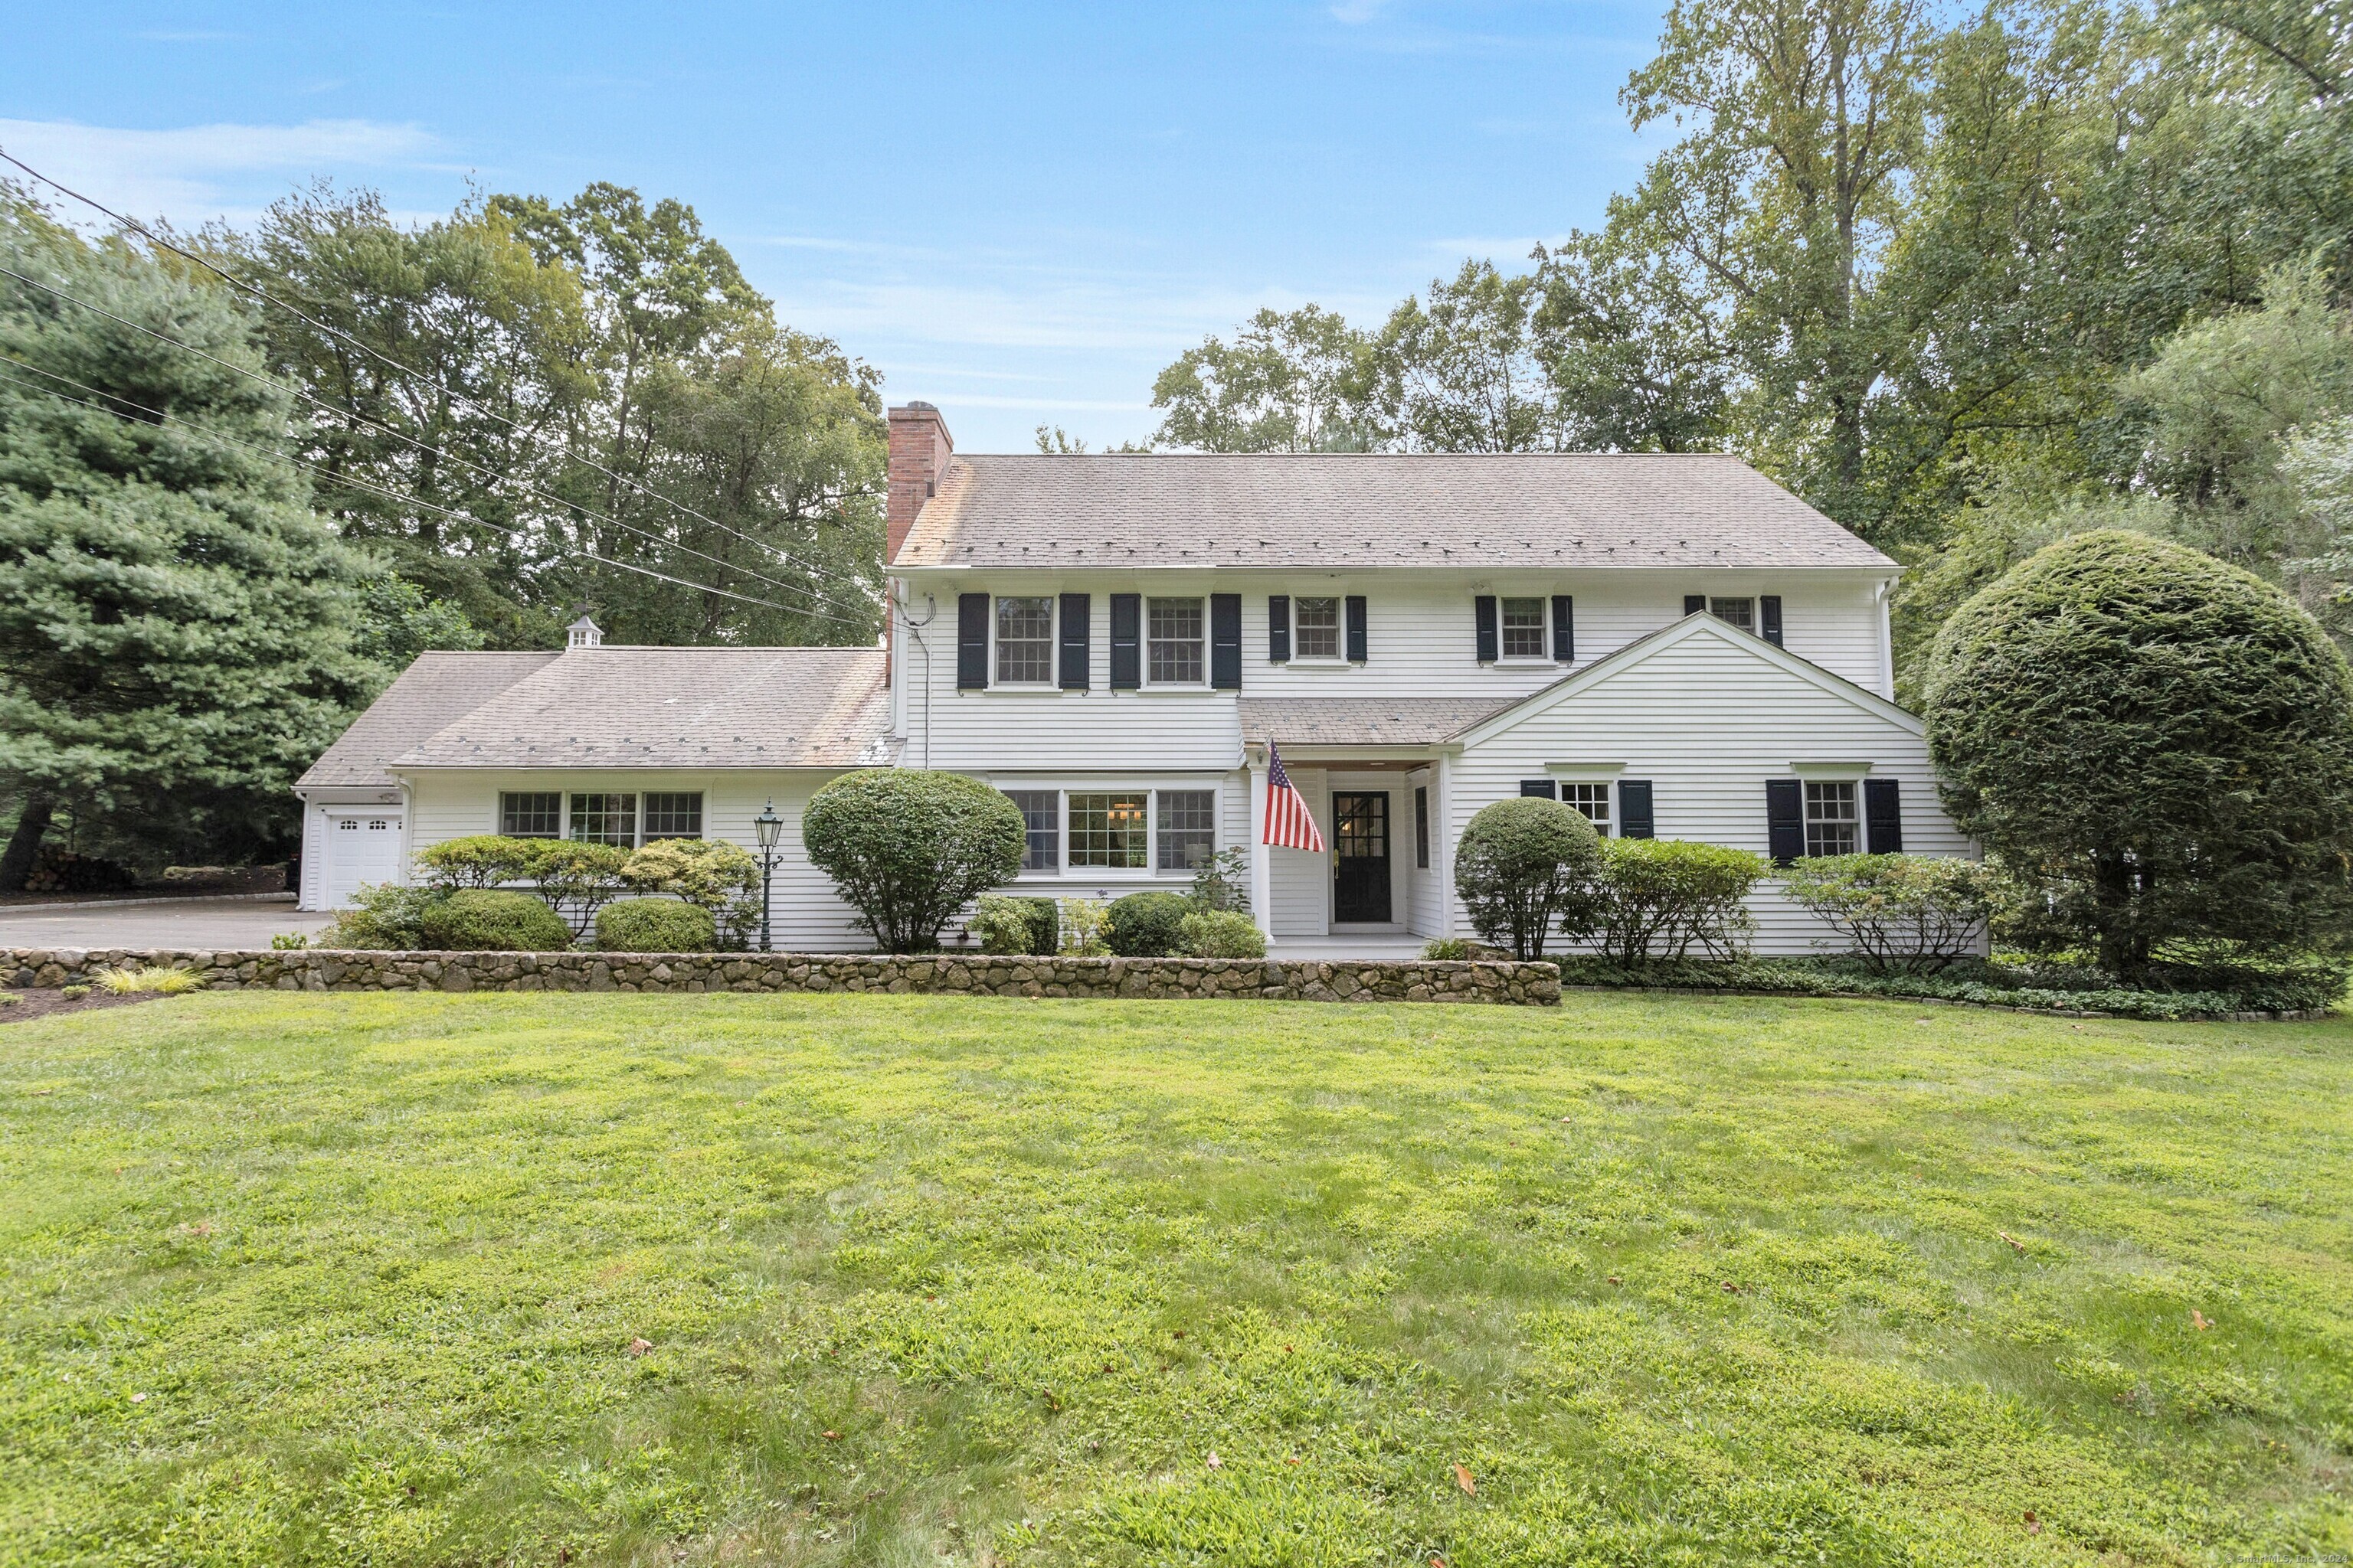
M 2042 893 L 2017 940 L 2132 978 L 2165 940 L 2346 926 L 2353 675 L 2247 571 L 2113 529 L 2035 552 L 1937 637 L 1927 738 L 1955 823 Z

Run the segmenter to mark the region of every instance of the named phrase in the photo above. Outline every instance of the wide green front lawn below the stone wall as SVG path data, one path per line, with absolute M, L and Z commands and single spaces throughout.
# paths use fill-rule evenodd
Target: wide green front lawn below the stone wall
M 2353 1027 L 1925 1011 L 9 1025 L 0 1563 L 2346 1561 Z

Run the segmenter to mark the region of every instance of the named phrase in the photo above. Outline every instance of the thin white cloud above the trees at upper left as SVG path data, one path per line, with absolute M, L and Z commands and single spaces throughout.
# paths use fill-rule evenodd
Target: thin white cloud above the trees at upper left
M 49 179 L 132 216 L 200 223 L 249 216 L 254 181 L 268 195 L 313 176 L 419 167 L 440 148 L 419 125 L 306 120 L 301 125 L 188 125 L 122 129 L 73 120 L 0 120 L 0 148 Z M 12 172 L 14 174 L 14 172 Z M 45 190 L 61 216 L 73 202 Z

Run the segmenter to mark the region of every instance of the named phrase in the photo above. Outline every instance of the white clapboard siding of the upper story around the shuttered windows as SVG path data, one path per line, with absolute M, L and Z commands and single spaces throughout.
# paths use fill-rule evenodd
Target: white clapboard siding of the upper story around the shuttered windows
M 958 771 L 1021 766 L 1132 769 L 1238 766 L 1235 696 L 1254 698 L 1492 698 L 1539 691 L 1574 668 L 1682 618 L 1687 592 L 1781 595 L 1784 646 L 1887 696 L 1880 576 L 1857 571 L 1586 571 L 1532 574 L 1064 574 L 991 571 L 925 576 L 911 614 L 927 625 L 901 639 L 894 679 L 906 766 Z M 1089 689 L 955 689 L 958 592 L 1089 595 Z M 1242 595 L 1242 689 L 1111 691 L 1111 595 Z M 1365 595 L 1367 661 L 1268 663 L 1268 595 Z M 1577 599 L 1577 663 L 1478 663 L 1475 595 Z M 1056 609 L 1059 614 L 1059 609 Z M 1059 630 L 1056 630 L 1059 646 Z M 1059 654 L 1056 654 L 1059 658 Z

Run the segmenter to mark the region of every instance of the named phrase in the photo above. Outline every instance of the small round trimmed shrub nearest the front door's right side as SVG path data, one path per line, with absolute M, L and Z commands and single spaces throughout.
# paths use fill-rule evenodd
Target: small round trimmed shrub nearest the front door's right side
M 1600 870 L 1600 839 L 1584 811 L 1558 799 L 1499 799 L 1464 827 L 1454 893 L 1473 931 L 1508 943 L 1518 959 L 1541 959 L 1555 929 L 1569 940 L 1593 933 Z

